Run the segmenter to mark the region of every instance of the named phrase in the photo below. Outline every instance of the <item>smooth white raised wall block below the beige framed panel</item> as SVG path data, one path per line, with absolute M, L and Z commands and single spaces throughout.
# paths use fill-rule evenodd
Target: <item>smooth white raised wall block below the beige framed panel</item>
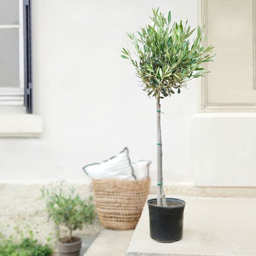
M 193 126 L 196 186 L 256 187 L 256 113 L 200 113 Z

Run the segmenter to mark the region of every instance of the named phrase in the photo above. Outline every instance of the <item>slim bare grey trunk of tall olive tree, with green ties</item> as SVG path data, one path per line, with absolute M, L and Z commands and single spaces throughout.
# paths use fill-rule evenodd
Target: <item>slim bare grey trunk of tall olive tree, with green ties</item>
M 163 169 L 162 169 L 162 134 L 161 134 L 161 104 L 160 94 L 157 95 L 157 205 L 166 205 L 163 189 Z

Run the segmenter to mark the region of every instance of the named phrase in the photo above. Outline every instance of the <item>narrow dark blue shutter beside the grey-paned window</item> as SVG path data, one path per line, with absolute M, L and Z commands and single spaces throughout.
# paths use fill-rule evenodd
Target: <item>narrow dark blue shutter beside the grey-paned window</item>
M 24 105 L 26 113 L 33 113 L 32 49 L 31 49 L 31 0 L 23 0 L 24 26 Z

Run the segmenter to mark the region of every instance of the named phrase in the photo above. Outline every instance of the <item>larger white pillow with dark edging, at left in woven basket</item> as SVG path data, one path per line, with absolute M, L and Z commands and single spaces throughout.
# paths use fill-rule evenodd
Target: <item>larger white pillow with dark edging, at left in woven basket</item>
M 103 163 L 89 164 L 83 170 L 91 178 L 136 179 L 133 174 L 129 151 L 125 148 L 117 156 Z

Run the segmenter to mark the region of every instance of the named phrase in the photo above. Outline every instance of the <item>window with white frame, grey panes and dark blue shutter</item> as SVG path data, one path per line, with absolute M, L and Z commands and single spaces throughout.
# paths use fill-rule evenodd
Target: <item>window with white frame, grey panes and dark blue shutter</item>
M 32 113 L 30 0 L 0 1 L 0 105 Z

